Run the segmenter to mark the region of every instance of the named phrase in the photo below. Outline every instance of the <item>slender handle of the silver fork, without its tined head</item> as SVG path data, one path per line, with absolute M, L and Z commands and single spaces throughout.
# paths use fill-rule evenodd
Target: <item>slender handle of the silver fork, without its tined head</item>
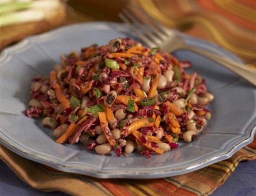
M 237 75 L 241 76 L 242 78 L 244 78 L 245 80 L 247 80 L 248 82 L 250 82 L 254 86 L 256 86 L 256 69 L 253 69 L 253 68 L 250 68 L 246 65 L 237 63 L 234 60 L 231 60 L 230 58 L 219 56 L 217 54 L 213 54 L 211 52 L 204 51 L 202 49 L 198 49 L 198 48 L 195 48 L 195 47 L 190 46 L 190 45 L 185 45 L 184 44 L 179 49 L 190 50 L 190 51 L 198 53 L 202 56 L 210 58 L 211 60 L 223 65 L 224 67 L 226 67 L 230 71 L 236 73 Z

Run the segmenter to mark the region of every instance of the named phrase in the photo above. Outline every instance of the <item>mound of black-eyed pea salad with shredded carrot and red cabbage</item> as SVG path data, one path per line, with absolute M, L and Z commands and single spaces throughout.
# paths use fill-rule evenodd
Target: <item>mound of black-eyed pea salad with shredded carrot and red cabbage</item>
M 44 116 L 57 143 L 82 142 L 97 154 L 148 157 L 192 142 L 214 96 L 189 62 L 130 38 L 61 55 L 50 78 L 36 76 L 25 114 Z

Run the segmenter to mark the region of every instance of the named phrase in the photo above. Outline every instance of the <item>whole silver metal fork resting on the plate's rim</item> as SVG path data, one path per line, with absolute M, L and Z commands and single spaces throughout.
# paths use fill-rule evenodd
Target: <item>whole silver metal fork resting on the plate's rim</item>
M 136 8 L 140 9 L 139 7 Z M 182 36 L 158 23 L 143 9 L 140 9 L 140 11 L 143 16 L 146 17 L 145 19 L 147 22 L 142 20 L 141 16 L 139 16 L 138 13 L 134 11 L 134 7 L 131 6 L 128 6 L 126 9 L 124 9 L 122 13 L 119 13 L 119 18 L 121 18 L 123 22 L 130 25 L 131 29 L 143 42 L 145 42 L 145 44 L 148 45 L 148 47 L 160 47 L 161 50 L 169 53 L 179 49 L 193 51 L 202 56 L 210 58 L 220 65 L 223 65 L 230 71 L 236 73 L 237 75 L 241 76 L 256 86 L 256 69 L 235 62 L 230 58 L 219 56 L 203 49 L 187 45 L 184 42 L 184 38 Z

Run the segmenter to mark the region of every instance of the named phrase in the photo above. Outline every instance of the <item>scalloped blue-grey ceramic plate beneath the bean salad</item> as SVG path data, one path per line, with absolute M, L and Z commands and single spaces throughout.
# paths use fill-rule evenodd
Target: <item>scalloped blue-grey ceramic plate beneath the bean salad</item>
M 252 85 L 227 69 L 200 55 L 178 51 L 175 56 L 189 60 L 206 78 L 215 95 L 210 105 L 213 115 L 207 127 L 192 143 L 180 143 L 163 155 L 150 159 L 140 154 L 129 157 L 101 156 L 81 145 L 54 142 L 52 131 L 41 120 L 24 116 L 29 101 L 31 79 L 37 74 L 49 76 L 59 54 L 80 51 L 91 44 L 107 44 L 110 39 L 134 36 L 126 25 L 85 23 L 60 28 L 27 38 L 1 54 L 1 143 L 11 151 L 61 171 L 97 178 L 162 178 L 198 170 L 232 156 L 252 142 L 255 134 L 256 93 Z M 236 56 L 208 42 L 184 36 L 187 44 L 228 56 Z

